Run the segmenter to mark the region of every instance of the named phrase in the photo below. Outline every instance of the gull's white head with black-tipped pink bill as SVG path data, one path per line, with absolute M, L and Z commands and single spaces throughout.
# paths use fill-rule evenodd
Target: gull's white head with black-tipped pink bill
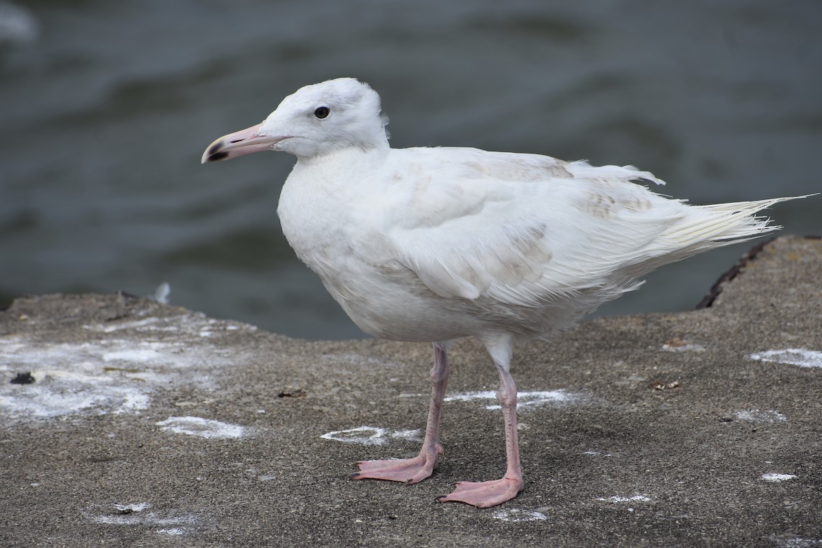
M 304 159 L 351 147 L 372 150 L 386 146 L 385 125 L 376 91 L 354 78 L 337 78 L 300 88 L 263 122 L 215 140 L 202 163 L 262 150 Z

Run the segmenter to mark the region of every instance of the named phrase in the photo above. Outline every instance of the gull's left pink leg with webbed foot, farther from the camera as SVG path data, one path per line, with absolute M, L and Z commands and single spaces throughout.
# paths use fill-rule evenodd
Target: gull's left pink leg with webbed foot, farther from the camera
M 428 423 L 425 428 L 423 448 L 414 458 L 390 460 L 367 460 L 358 464 L 360 471 L 353 473 L 353 480 L 390 480 L 404 483 L 418 483 L 431 476 L 436 467 L 437 455 L 442 453 L 440 445 L 440 417 L 442 398 L 448 385 L 447 343 L 434 343 L 434 366 L 431 370 L 431 407 L 428 409 Z

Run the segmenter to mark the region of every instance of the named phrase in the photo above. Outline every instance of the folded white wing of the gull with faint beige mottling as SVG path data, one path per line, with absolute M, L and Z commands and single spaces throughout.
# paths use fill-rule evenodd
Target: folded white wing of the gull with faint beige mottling
M 651 258 L 649 243 L 688 209 L 630 182 L 661 183 L 630 167 L 473 149 L 397 152 L 404 193 L 387 237 L 440 297 L 535 306 L 607 285 Z

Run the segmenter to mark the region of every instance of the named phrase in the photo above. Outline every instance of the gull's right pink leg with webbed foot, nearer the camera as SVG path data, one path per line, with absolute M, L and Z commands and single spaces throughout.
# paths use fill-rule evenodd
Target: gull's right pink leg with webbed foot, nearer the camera
M 500 375 L 500 389 L 496 399 L 502 408 L 506 423 L 506 475 L 500 480 L 459 481 L 456 489 L 440 497 L 440 502 L 464 502 L 478 508 L 487 508 L 513 499 L 524 488 L 520 465 L 520 444 L 516 432 L 516 385 L 510 375 L 512 340 L 508 337 L 483 340 Z

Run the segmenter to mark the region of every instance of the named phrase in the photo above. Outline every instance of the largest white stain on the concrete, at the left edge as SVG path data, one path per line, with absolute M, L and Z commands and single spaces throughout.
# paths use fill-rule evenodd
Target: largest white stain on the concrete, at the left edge
M 139 413 L 149 408 L 157 389 L 210 387 L 210 372 L 236 359 L 199 337 L 204 326 L 228 329 L 210 322 L 217 320 L 192 314 L 84 325 L 104 337 L 116 336 L 83 343 L 0 337 L 0 380 L 11 380 L 23 372 L 35 379 L 28 385 L 0 383 L 0 417 L 22 420 Z M 170 330 L 177 333 L 173 338 L 151 336 Z M 127 331 L 136 331 L 136 337 L 127 338 Z

